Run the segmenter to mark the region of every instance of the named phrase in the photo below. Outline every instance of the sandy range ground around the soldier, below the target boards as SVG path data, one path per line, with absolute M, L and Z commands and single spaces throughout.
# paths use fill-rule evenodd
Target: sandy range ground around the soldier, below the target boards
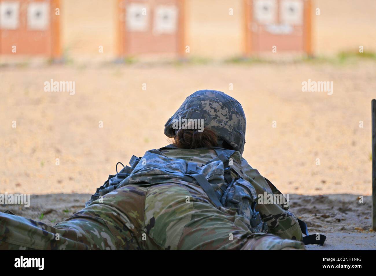
M 299 194 L 293 212 L 311 232 L 330 233 L 327 249 L 346 243 L 347 249 L 374 249 L 374 233 L 367 232 L 374 72 L 376 63 L 367 60 L 2 67 L 0 193 L 43 195 L 32 196 L 27 210 L 7 208 L 35 219 L 44 213 L 42 221 L 58 222 L 83 207 L 88 195 L 80 194 L 94 193 L 118 161 L 169 143 L 163 125 L 186 96 L 217 89 L 243 105 L 243 156 L 290 193 L 291 201 Z M 45 92 L 50 79 L 75 81 L 75 94 Z M 308 79 L 333 81 L 333 94 L 302 92 Z M 60 193 L 72 195 L 53 195 Z

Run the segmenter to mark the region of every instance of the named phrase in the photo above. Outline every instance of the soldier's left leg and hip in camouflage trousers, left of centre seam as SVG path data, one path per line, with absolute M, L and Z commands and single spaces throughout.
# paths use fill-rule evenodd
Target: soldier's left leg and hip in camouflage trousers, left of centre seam
M 0 249 L 140 249 L 136 227 L 145 192 L 139 187 L 115 190 L 54 227 L 0 213 Z

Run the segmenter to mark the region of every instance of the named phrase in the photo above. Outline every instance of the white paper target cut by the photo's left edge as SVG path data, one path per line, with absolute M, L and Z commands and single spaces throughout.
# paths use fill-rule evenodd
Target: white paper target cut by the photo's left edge
M 15 30 L 20 25 L 20 3 L 0 2 L 0 28 Z

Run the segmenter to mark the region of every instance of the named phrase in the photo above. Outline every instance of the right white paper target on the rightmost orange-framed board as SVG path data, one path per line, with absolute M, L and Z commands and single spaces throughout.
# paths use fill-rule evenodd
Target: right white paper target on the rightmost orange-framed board
M 303 24 L 303 1 L 282 0 L 280 3 L 280 21 L 287 25 Z

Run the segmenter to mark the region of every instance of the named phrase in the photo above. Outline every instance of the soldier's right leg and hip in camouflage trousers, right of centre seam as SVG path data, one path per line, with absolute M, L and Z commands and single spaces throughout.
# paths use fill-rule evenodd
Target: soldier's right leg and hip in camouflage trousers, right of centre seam
M 161 184 L 146 196 L 146 247 L 160 249 L 267 250 L 294 247 L 299 241 L 282 240 L 269 234 L 252 234 L 244 217 L 226 208 L 216 208 L 196 185 Z

